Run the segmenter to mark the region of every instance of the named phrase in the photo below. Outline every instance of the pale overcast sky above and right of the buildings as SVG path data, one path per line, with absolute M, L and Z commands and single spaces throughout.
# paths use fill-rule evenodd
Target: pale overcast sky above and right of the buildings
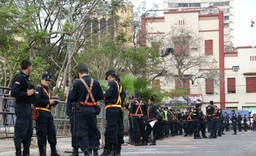
M 131 0 L 135 8 L 143 0 Z M 163 0 L 147 0 L 147 10 L 152 3 L 159 4 L 163 9 Z M 256 22 L 256 0 L 235 0 L 235 46 L 256 46 L 256 23 L 250 27 L 251 20 Z

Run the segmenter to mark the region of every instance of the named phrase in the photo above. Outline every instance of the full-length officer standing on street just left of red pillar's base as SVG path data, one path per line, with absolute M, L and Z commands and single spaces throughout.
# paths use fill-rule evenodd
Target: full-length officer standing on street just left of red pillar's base
M 215 120 L 216 108 L 213 105 L 213 101 L 210 101 L 210 105 L 208 106 L 208 109 L 206 110 L 206 112 L 207 112 L 208 129 L 211 132 L 209 139 L 217 138 L 217 129 L 216 129 L 216 120 Z

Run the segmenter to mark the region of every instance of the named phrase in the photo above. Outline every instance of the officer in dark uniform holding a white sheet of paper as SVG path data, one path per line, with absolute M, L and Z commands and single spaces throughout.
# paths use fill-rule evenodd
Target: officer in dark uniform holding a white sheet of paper
M 157 130 L 157 122 L 160 119 L 158 106 L 154 103 L 154 97 L 150 97 L 148 99 L 148 114 L 147 114 L 147 125 L 146 125 L 146 136 L 145 140 L 143 140 L 144 144 L 147 144 L 148 136 L 151 134 L 153 130 L 154 139 L 151 144 L 149 145 L 156 145 L 157 137 L 158 137 L 158 130 Z M 149 124 L 150 122 L 154 121 L 155 124 L 153 127 Z

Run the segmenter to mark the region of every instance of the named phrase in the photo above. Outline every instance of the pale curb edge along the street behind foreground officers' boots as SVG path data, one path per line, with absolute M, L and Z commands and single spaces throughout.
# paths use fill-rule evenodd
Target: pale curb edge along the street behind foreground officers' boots
M 128 142 L 129 141 L 129 137 L 128 136 L 125 136 L 124 137 L 124 141 L 125 142 Z M 47 144 L 49 145 L 49 144 Z M 58 153 L 65 153 L 65 151 L 73 151 L 73 147 L 71 147 L 71 142 L 68 143 L 68 144 L 62 144 L 62 145 L 56 145 L 56 149 L 57 149 L 57 152 Z M 50 147 L 47 147 L 46 149 L 46 154 L 47 155 L 50 155 L 51 154 L 51 149 Z M 31 156 L 39 156 L 40 153 L 39 153 L 39 150 L 38 148 L 32 148 L 30 149 L 30 155 Z M 15 151 L 6 151 L 6 152 L 1 152 L 0 153 L 0 156 L 16 156 L 15 155 Z

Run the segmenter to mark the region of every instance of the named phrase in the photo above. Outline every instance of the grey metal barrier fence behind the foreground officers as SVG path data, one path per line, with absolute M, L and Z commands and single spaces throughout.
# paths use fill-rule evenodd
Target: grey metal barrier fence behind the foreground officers
M 0 87 L 0 133 L 4 134 L 0 136 L 0 139 L 14 138 L 14 125 L 15 125 L 15 112 L 14 105 L 15 99 L 10 96 L 9 92 L 11 88 Z M 70 119 L 66 114 L 66 102 L 59 101 L 59 97 L 52 97 L 52 99 L 57 100 L 59 104 L 56 107 L 52 107 L 51 113 L 54 118 L 55 130 L 57 132 L 57 137 L 71 137 L 70 133 Z M 102 134 L 102 143 L 104 142 L 104 130 L 106 125 L 105 119 L 105 104 L 98 103 L 101 106 L 101 113 L 97 115 L 98 129 Z M 128 131 L 129 121 L 127 110 L 124 110 L 124 127 L 125 132 Z M 35 121 L 34 121 L 35 129 Z M 36 136 L 33 134 L 33 136 Z

